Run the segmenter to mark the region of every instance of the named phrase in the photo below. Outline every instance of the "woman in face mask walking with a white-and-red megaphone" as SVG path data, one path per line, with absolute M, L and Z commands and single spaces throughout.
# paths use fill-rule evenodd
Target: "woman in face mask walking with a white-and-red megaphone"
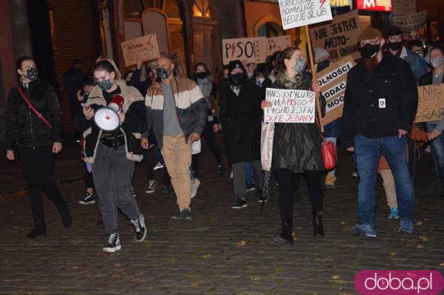
M 146 236 L 144 215 L 130 194 L 134 161 L 142 161 L 140 133 L 147 127 L 144 97 L 116 78 L 117 69 L 108 60 L 97 62 L 96 86 L 76 117 L 76 127 L 85 138 L 85 162 L 92 163 L 92 175 L 105 233 L 104 252 L 121 249 L 118 209 L 135 229 L 135 240 Z

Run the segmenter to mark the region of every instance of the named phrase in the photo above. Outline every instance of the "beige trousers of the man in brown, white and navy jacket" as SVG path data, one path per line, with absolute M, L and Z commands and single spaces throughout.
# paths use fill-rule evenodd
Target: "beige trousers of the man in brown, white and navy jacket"
M 163 137 L 162 157 L 171 177 L 171 184 L 178 200 L 180 211 L 191 210 L 191 144 L 185 143 L 185 136 L 165 135 Z

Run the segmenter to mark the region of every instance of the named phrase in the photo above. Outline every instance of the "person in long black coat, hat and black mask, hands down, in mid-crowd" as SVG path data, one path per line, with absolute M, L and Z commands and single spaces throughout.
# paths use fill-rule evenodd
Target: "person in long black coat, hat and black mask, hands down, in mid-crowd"
M 228 161 L 233 170 L 236 204 L 232 208 L 240 209 L 247 206 L 245 162 L 253 167 L 256 194 L 260 196 L 262 190 L 261 98 L 239 60 L 228 64 L 228 74 L 229 82 L 220 89 L 220 117 Z

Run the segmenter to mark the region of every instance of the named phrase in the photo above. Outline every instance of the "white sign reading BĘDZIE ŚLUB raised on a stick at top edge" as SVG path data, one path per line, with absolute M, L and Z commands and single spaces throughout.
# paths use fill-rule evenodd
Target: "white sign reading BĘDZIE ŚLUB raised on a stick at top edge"
M 280 0 L 279 9 L 284 30 L 332 19 L 327 0 Z

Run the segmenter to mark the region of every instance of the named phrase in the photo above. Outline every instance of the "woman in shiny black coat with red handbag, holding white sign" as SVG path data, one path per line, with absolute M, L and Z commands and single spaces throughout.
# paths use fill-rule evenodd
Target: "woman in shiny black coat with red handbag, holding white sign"
M 278 57 L 279 73 L 271 85 L 277 89 L 314 89 L 319 93 L 318 83 L 312 84 L 305 72 L 305 60 L 299 48 L 287 48 Z M 321 96 L 321 105 L 325 100 Z M 262 107 L 271 107 L 264 100 Z M 323 190 L 319 171 L 325 170 L 321 155 L 321 130 L 317 123 L 275 123 L 272 167 L 279 179 L 279 208 L 282 231 L 275 235 L 278 244 L 293 244 L 293 191 L 300 175 L 305 178 L 313 210 L 314 235 L 324 235 L 322 208 Z

